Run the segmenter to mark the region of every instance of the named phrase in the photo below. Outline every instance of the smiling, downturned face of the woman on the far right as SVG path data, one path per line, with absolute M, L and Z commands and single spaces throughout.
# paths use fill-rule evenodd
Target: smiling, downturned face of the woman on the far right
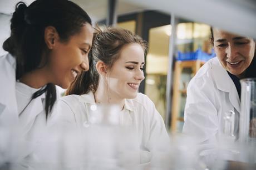
M 252 63 L 255 41 L 252 38 L 213 29 L 213 45 L 221 65 L 239 78 Z

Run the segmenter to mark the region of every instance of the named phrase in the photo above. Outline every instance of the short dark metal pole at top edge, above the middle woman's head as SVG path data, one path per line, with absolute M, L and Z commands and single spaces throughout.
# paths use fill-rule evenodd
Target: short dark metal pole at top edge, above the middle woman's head
M 117 22 L 116 7 L 117 7 L 117 0 L 108 0 L 107 19 L 106 19 L 107 26 L 115 25 Z

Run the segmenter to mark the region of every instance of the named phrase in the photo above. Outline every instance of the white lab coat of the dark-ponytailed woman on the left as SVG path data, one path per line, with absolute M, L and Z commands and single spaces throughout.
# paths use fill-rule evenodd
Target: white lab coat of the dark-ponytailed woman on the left
M 16 60 L 11 54 L 0 56 L 0 123 L 6 126 L 22 127 L 24 134 L 46 125 L 43 100 L 45 94 L 33 99 L 31 104 L 24 110 L 24 114 L 18 116 L 16 101 Z

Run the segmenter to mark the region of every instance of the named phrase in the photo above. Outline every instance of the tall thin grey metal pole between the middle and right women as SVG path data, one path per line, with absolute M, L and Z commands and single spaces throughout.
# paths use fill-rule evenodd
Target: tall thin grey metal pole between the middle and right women
M 170 115 L 171 115 L 171 85 L 173 79 L 173 56 L 176 45 L 176 24 L 177 19 L 174 13 L 171 13 L 171 35 L 169 38 L 169 67 L 166 80 L 166 115 L 165 115 L 165 127 L 169 130 Z

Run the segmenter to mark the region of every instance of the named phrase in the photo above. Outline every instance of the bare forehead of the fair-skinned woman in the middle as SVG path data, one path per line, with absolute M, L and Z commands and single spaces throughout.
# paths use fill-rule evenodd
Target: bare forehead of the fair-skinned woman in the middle
M 137 61 L 144 63 L 144 50 L 140 44 L 126 44 L 122 47 L 119 56 L 120 61 Z

